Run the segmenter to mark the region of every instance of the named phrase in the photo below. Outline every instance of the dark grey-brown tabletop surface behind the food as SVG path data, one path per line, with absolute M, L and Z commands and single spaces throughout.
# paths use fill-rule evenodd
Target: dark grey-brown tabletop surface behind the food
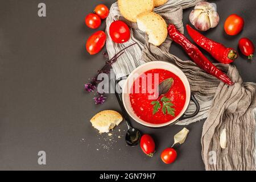
M 46 18 L 38 17 L 40 2 L 46 3 Z M 85 26 L 84 17 L 98 3 L 110 7 L 113 2 L 0 0 L 0 169 L 204 169 L 200 144 L 203 121 L 187 126 L 188 138 L 176 147 L 178 158 L 171 165 L 161 162 L 160 152 L 174 142 L 174 134 L 183 126 L 156 130 L 134 123 L 154 137 L 154 158 L 148 158 L 138 146 L 126 146 L 124 122 L 112 137 L 92 128 L 89 120 L 98 111 L 120 109 L 114 94 L 104 105 L 96 106 L 93 95 L 82 91 L 87 79 L 104 65 L 101 53 L 90 56 L 85 51 L 86 39 L 94 30 Z M 243 36 L 256 43 L 254 0 L 214 2 L 220 24 L 205 35 L 234 48 Z M 191 10 L 184 10 L 184 24 Z M 245 28 L 231 37 L 225 35 L 223 24 L 233 13 L 245 19 Z M 98 30 L 104 27 L 102 24 Z M 171 52 L 188 59 L 176 44 Z M 234 65 L 244 81 L 256 82 L 255 59 L 241 56 Z M 47 154 L 46 166 L 37 162 L 41 150 Z

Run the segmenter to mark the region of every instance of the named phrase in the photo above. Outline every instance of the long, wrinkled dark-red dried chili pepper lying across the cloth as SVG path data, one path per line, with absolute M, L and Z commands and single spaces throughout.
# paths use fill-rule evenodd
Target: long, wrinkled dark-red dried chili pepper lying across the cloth
M 168 33 L 174 42 L 183 47 L 187 52 L 189 57 L 197 64 L 201 69 L 210 75 L 218 78 L 219 80 L 225 82 L 228 85 L 234 85 L 234 82 L 230 80 L 228 76 L 225 75 L 220 69 L 215 67 L 210 61 L 203 55 L 203 53 L 192 44 L 183 34 L 181 34 L 173 24 L 168 26 Z

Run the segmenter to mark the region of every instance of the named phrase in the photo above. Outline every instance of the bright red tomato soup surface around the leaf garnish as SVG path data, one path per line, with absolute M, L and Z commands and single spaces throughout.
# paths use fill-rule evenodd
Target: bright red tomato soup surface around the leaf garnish
M 148 73 L 152 73 L 152 89 L 154 89 L 154 73 L 159 74 L 159 83 L 166 80 L 167 78 L 173 78 L 174 82 L 171 86 L 171 89 L 168 91 L 168 93 L 164 94 L 165 97 L 170 98 L 172 104 L 174 104 L 173 107 L 175 109 L 175 115 L 172 116 L 171 114 L 163 113 L 162 107 L 163 102 L 161 101 L 161 98 L 164 96 L 159 96 L 156 100 L 149 100 L 148 96 L 154 95 L 153 93 L 149 93 L 147 90 L 147 77 Z M 177 77 L 174 73 L 167 71 L 165 69 L 151 69 L 150 71 L 147 71 L 144 73 L 145 77 L 139 77 L 137 80 L 134 81 L 133 86 L 131 87 L 131 93 L 130 96 L 130 102 L 131 107 L 133 108 L 134 113 L 141 118 L 143 121 L 148 123 L 154 123 L 154 124 L 160 124 L 160 123 L 166 123 L 168 121 L 171 121 L 174 119 L 177 115 L 180 114 L 181 110 L 183 109 L 185 105 L 186 100 L 186 92 L 185 92 L 185 86 L 183 82 L 180 80 L 179 77 Z M 151 76 L 149 75 L 149 76 Z M 139 80 L 138 80 L 139 79 Z M 147 84 L 142 84 L 142 80 L 146 80 Z M 139 84 L 139 93 L 135 93 L 135 82 L 138 81 Z M 151 83 L 150 83 L 151 84 Z M 133 90 L 132 90 L 133 89 Z M 142 92 L 142 90 L 145 90 L 146 92 Z M 159 101 L 160 103 L 160 109 L 153 114 L 153 107 L 154 105 L 151 104 L 152 101 Z

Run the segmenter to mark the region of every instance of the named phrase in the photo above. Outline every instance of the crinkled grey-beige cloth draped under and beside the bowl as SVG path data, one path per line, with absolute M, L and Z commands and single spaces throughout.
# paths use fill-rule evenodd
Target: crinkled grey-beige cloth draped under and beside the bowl
M 184 32 L 182 23 L 183 9 L 195 6 L 201 0 L 170 0 L 163 6 L 154 9 L 166 23 L 174 24 L 180 32 Z M 187 76 L 191 90 L 200 104 L 200 112 L 193 118 L 177 122 L 177 125 L 207 118 L 204 122 L 201 138 L 202 157 L 207 170 L 255 170 L 255 113 L 256 98 L 254 83 L 243 83 L 237 69 L 232 65 L 215 64 L 228 73 L 234 86 L 228 86 L 217 78 L 208 75 L 197 67 L 193 61 L 180 60 L 169 53 L 172 43 L 170 38 L 159 47 L 148 43 L 148 37 L 138 30 L 136 23 L 128 22 L 131 27 L 131 39 L 123 44 L 114 43 L 109 36 L 109 26 L 117 19 L 125 20 L 118 10 L 117 3 L 110 9 L 106 19 L 106 47 L 109 57 L 130 44 L 137 43 L 126 49 L 126 52 L 113 64 L 117 77 L 129 75 L 139 65 L 148 61 L 168 61 L 179 67 Z M 191 103 L 187 113 L 195 110 Z M 227 146 L 220 147 L 220 133 L 226 129 Z

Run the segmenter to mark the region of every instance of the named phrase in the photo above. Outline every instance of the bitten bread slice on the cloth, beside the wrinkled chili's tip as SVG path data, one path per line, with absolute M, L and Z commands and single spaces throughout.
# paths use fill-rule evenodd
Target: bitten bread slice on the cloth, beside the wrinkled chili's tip
M 148 34 L 148 42 L 155 46 L 160 46 L 167 38 L 166 21 L 158 14 L 144 12 L 137 16 L 139 30 Z

